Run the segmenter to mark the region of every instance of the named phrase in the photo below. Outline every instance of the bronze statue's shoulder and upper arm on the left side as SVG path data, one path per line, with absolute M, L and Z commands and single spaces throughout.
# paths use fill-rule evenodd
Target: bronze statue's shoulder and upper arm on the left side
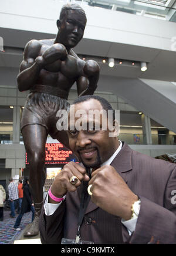
M 26 44 L 23 53 L 23 61 L 19 67 L 17 83 L 19 91 L 29 90 L 38 80 L 41 67 L 36 63 L 41 44 L 37 40 L 31 40 Z

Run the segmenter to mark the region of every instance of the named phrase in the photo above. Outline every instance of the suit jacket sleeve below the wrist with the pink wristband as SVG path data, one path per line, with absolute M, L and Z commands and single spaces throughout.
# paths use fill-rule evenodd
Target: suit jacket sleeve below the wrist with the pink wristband
M 65 201 L 50 215 L 45 215 L 42 208 L 39 220 L 40 239 L 42 244 L 60 244 L 63 238 L 63 222 L 65 215 Z

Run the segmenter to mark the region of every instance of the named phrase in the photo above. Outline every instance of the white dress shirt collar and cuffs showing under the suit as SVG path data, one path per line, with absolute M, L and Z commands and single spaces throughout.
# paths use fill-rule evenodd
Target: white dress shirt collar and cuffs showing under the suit
M 122 143 L 119 140 L 120 145 L 117 148 L 117 150 L 113 153 L 113 155 L 106 161 L 104 162 L 101 166 L 104 165 L 110 165 L 111 162 L 113 162 L 114 158 L 117 156 L 117 154 L 120 152 L 121 147 L 122 147 Z M 63 198 L 65 199 L 66 196 L 63 196 Z M 58 203 L 58 204 L 50 204 L 48 202 L 48 195 L 46 196 L 45 199 L 45 204 L 44 204 L 44 209 L 45 209 L 45 214 L 46 215 L 52 215 L 56 209 L 59 207 L 59 205 L 62 204 L 62 202 Z M 140 206 L 139 206 L 140 207 Z M 128 233 L 131 235 L 131 233 L 134 231 L 134 229 L 136 228 L 136 223 L 137 223 L 137 216 L 133 219 L 129 219 L 128 221 L 124 221 L 123 219 L 121 220 L 122 224 L 128 229 Z

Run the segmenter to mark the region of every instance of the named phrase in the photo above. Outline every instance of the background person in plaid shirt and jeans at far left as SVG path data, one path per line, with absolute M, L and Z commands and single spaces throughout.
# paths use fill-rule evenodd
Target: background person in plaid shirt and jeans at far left
M 18 204 L 18 187 L 13 182 L 13 179 L 9 179 L 8 191 L 9 191 L 9 204 L 11 207 L 11 218 L 15 218 L 15 206 Z

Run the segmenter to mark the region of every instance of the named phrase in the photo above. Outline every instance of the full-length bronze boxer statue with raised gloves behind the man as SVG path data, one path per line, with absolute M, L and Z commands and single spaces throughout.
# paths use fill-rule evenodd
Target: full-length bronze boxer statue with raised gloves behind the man
M 78 96 L 93 94 L 99 80 L 96 61 L 81 60 L 72 50 L 83 38 L 86 15 L 79 5 L 65 5 L 57 20 L 55 39 L 26 44 L 17 77 L 19 91 L 30 90 L 21 119 L 21 132 L 29 157 L 35 219 L 25 236 L 37 235 L 45 183 L 45 143 L 48 134 L 69 147 L 65 131 L 58 131 L 58 110 L 69 109 L 67 97 L 76 82 Z

